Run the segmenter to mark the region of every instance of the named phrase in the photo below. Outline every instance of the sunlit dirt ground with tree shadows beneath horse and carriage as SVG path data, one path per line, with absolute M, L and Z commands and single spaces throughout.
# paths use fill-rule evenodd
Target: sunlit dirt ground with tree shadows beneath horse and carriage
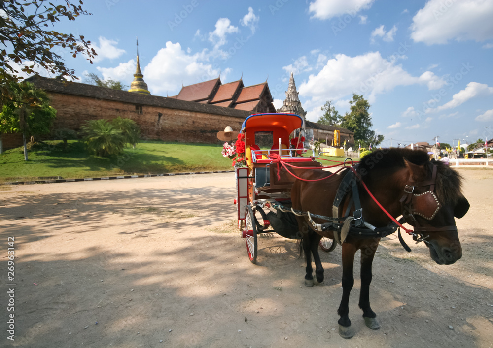
M 322 252 L 313 288 L 296 241 L 262 235 L 250 263 L 232 173 L 1 186 L 0 347 L 492 347 L 493 170 L 460 172 L 462 259 L 437 265 L 423 243 L 383 239 L 370 293 L 381 329 L 357 306 L 357 262 L 351 340 L 337 331 L 341 248 Z

